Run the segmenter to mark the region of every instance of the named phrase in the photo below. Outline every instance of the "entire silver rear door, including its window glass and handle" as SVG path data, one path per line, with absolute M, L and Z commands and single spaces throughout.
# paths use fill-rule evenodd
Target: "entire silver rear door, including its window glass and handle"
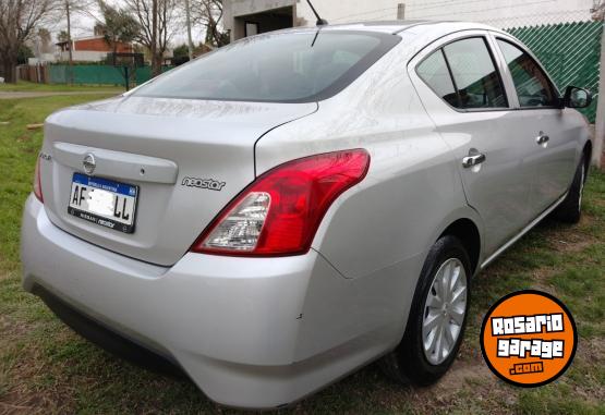
M 488 34 L 439 39 L 411 62 L 410 76 L 452 148 L 469 204 L 484 220 L 487 255 L 530 220 L 536 146 L 511 132 L 519 115 L 507 96 Z

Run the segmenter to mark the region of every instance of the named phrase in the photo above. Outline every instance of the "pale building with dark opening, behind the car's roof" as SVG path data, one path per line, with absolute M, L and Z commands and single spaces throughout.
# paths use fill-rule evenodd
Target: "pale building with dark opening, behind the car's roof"
M 596 0 L 312 0 L 330 24 L 360 21 L 460 20 L 515 27 L 590 20 Z M 306 0 L 223 0 L 231 39 L 314 25 Z

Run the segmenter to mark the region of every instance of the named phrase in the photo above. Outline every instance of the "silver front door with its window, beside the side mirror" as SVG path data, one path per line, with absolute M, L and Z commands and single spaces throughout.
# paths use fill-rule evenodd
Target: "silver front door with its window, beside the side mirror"
M 515 126 L 535 149 L 534 185 L 530 207 L 534 217 L 568 190 L 576 170 L 581 125 L 565 117 L 559 94 L 540 63 L 513 38 L 494 34 L 495 52 L 507 65 L 518 102 L 519 123 Z

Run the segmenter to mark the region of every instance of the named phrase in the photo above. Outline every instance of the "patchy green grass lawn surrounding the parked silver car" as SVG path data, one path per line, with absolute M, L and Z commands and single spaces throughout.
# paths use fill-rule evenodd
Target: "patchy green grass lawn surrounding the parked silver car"
M 0 125 L 0 413 L 232 413 L 186 380 L 134 367 L 82 340 L 21 289 L 21 211 L 41 143 L 41 131 L 25 125 L 87 100 L 90 96 L 0 100 L 0 120 L 10 121 Z M 474 280 L 465 342 L 438 385 L 401 387 L 371 365 L 282 412 L 605 414 L 604 173 L 591 172 L 583 208 L 579 225 L 539 225 Z M 479 346 L 489 305 L 527 288 L 562 300 L 580 332 L 572 366 L 539 389 L 498 380 Z

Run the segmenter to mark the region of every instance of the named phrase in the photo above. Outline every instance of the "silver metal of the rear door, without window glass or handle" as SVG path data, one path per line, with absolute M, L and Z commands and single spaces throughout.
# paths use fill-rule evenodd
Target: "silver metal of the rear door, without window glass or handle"
M 453 152 L 468 202 L 485 223 L 483 247 L 491 254 L 532 218 L 529 197 L 535 166 L 531 159 L 539 148 L 533 139 L 516 131 L 521 114 L 515 108 L 455 109 L 416 73 L 418 64 L 439 48 L 474 37 L 487 40 L 487 32 L 464 30 L 441 37 L 409 62 L 408 73 L 426 111 Z M 521 130 L 524 131 L 523 125 Z M 477 169 L 464 168 L 462 159 L 473 150 L 485 155 L 486 161 Z

